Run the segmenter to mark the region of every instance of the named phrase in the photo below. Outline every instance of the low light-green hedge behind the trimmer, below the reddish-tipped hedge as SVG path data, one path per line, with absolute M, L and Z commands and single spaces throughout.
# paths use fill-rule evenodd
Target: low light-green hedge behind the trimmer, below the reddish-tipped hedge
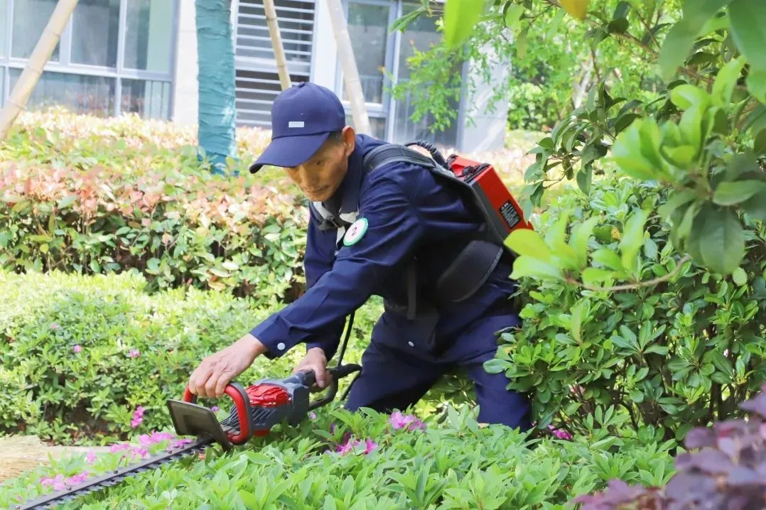
M 0 271 L 0 431 L 106 443 L 169 426 L 165 400 L 182 396 L 200 361 L 277 309 L 198 289 L 149 295 L 147 285 L 129 273 Z M 357 314 L 345 361 L 358 360 L 379 309 L 373 301 Z M 303 352 L 261 358 L 238 380 L 286 377 Z

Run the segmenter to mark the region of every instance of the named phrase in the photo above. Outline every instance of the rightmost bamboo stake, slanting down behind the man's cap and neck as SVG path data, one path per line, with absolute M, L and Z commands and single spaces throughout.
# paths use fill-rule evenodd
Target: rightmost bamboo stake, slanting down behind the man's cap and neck
M 362 82 L 359 80 L 359 71 L 356 67 L 351 38 L 349 37 L 349 25 L 345 21 L 343 6 L 340 0 L 326 0 L 326 2 L 330 11 L 332 33 L 335 34 L 340 64 L 343 69 L 345 90 L 349 93 L 354 126 L 357 132 L 369 135 L 372 133 L 372 129 L 370 129 L 370 119 L 367 116 L 365 94 L 362 92 Z

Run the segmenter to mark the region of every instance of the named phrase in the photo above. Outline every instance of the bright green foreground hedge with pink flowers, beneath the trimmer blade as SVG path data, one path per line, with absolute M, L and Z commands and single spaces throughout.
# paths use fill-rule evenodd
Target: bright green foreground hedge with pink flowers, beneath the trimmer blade
M 316 415 L 232 453 L 214 446 L 205 459 L 176 461 L 60 508 L 565 510 L 576 495 L 600 490 L 614 476 L 658 485 L 673 472 L 667 445 L 626 443 L 611 451 L 582 439 L 527 440 L 507 427 L 480 427 L 468 410 L 450 408 L 444 423 L 425 420 L 424 429 L 395 429 L 395 420 L 372 411 L 323 407 Z M 170 440 L 153 443 L 146 436 L 95 461 L 80 455 L 28 472 L 0 485 L 0 499 L 34 498 L 83 472 L 113 469 L 121 456 L 135 461 L 145 445 L 162 450 Z

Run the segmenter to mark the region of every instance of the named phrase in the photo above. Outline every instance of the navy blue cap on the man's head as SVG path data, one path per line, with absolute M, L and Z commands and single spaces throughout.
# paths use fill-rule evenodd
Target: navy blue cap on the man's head
M 256 162 L 291 167 L 306 162 L 331 132 L 345 127 L 345 110 L 332 90 L 316 83 L 298 83 L 283 90 L 271 105 L 271 143 Z

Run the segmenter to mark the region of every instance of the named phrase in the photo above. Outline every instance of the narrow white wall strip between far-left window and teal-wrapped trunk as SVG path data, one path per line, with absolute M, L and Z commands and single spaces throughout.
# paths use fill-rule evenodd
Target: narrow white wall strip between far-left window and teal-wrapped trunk
M 178 2 L 178 49 L 175 57 L 171 119 L 182 124 L 197 123 L 197 25 L 194 2 L 195 0 Z

